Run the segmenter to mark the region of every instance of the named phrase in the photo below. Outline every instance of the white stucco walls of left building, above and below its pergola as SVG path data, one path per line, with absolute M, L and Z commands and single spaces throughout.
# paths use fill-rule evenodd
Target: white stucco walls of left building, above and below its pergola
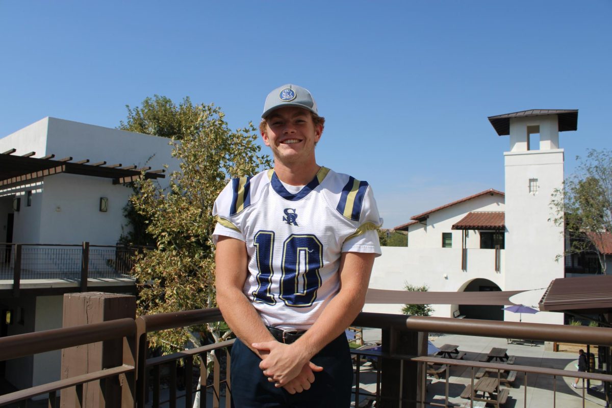
M 56 159 L 72 157 L 89 163 L 106 161 L 107 165 L 150 166 L 162 169 L 168 165 L 160 185 L 168 185 L 171 171 L 179 162 L 171 157 L 169 139 L 141 133 L 81 124 L 47 117 L 0 139 L 0 149 L 17 149 L 15 155 L 35 151 L 34 157 L 54 154 Z M 32 206 L 26 207 L 26 193 L 33 190 Z M 2 192 L 0 192 L 0 196 Z M 21 210 L 15 213 L 13 242 L 80 243 L 114 245 L 122 233 L 125 220 L 122 209 L 132 190 L 113 185 L 112 179 L 55 174 L 28 185 L 5 190 L 4 195 L 20 196 Z M 99 211 L 100 198 L 109 202 L 108 212 Z

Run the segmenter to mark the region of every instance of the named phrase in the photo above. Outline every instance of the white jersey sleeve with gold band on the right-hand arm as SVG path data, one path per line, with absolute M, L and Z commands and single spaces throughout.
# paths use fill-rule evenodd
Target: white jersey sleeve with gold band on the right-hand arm
M 342 252 L 364 252 L 381 255 L 381 246 L 376 230 L 383 225 L 383 218 L 378 214 L 371 186 L 364 195 L 356 231 L 342 245 Z

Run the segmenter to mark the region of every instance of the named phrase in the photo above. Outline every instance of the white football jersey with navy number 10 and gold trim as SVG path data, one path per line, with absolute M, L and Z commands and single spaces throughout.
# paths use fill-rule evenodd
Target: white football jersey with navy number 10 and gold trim
M 376 229 L 383 220 L 371 188 L 324 167 L 297 193 L 273 170 L 233 179 L 213 215 L 215 243 L 219 236 L 245 242 L 243 292 L 272 327 L 312 326 L 340 289 L 341 253 L 381 253 Z

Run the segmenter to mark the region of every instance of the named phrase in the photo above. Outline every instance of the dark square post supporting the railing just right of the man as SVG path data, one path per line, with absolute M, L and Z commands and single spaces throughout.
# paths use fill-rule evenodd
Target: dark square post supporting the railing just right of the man
M 383 354 L 404 355 L 406 358 L 418 355 L 419 333 L 394 328 L 383 329 Z M 416 362 L 383 358 L 381 373 L 381 407 L 417 407 L 419 381 Z M 398 399 L 403 402 L 398 403 Z

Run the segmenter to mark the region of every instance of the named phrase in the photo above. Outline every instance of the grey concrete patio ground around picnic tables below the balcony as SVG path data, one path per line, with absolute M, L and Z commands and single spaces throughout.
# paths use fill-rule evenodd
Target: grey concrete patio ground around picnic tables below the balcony
M 380 339 L 380 330 L 365 329 L 364 341 L 374 343 Z M 507 349 L 508 355 L 515 355 L 517 365 L 566 369 L 576 371 L 578 354 L 568 352 L 545 351 L 543 343 L 530 344 L 508 344 L 506 339 L 487 338 L 476 336 L 460 335 L 430 335 L 433 344 L 440 347 L 442 344 L 457 344 L 460 351 L 465 351 L 465 360 L 478 361 L 480 357 L 488 354 L 492 347 L 502 347 Z M 365 368 L 365 367 L 364 367 Z M 365 373 L 364 373 L 365 374 Z M 375 392 L 375 379 L 371 380 L 367 375 L 361 379 L 360 388 L 371 393 Z M 460 398 L 465 385 L 470 384 L 471 369 L 460 366 L 453 366 L 450 369 L 449 378 L 449 402 L 455 406 L 469 407 L 469 400 Z M 558 377 L 556 379 L 556 393 L 553 393 L 554 379 L 552 376 L 542 374 L 527 374 L 527 393 L 525 397 L 525 375 L 518 373 L 512 388 L 509 388 L 510 397 L 504 407 L 507 408 L 545 408 L 553 407 L 553 399 L 558 408 L 600 408 L 605 407 L 605 401 L 589 395 L 582 387 L 582 382 L 578 383 L 579 388 L 572 388 L 571 384 L 575 377 Z M 371 382 L 370 382 L 371 381 Z M 586 386 L 586 382 L 584 384 Z M 591 389 L 601 389 L 599 381 L 591 382 Z M 444 391 L 446 380 L 433 379 L 427 389 L 427 401 L 444 404 Z M 504 387 L 506 388 L 506 387 Z M 476 406 L 476 404 L 474 404 Z

